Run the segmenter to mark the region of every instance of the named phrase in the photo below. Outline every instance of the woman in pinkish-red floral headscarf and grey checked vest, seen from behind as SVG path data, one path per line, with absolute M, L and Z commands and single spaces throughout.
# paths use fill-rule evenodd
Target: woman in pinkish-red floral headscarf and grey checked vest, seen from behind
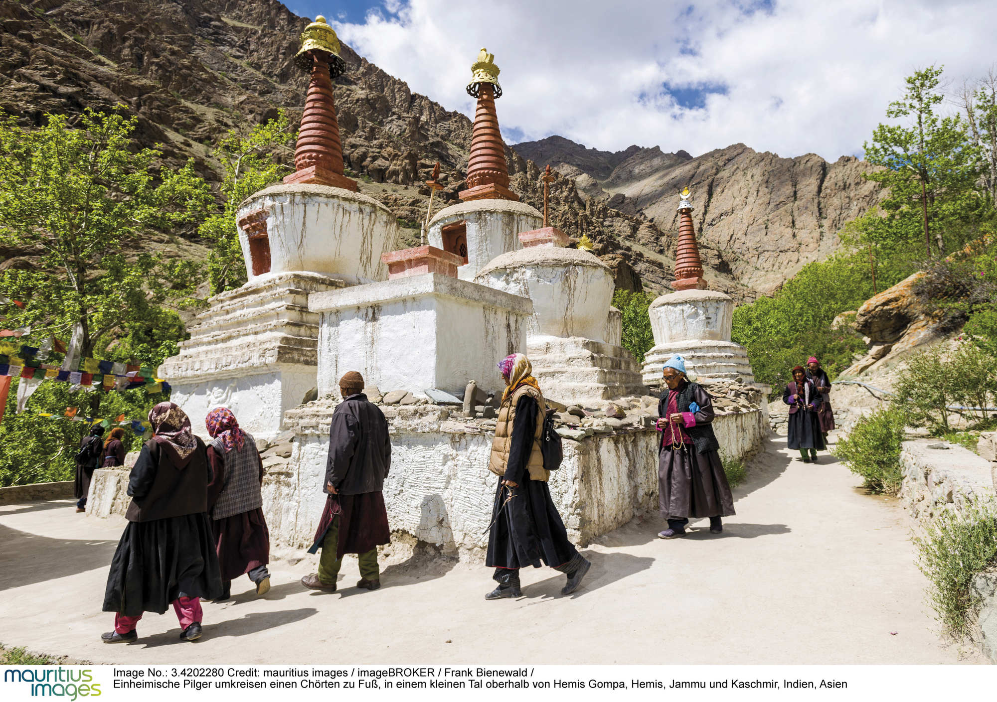
M 270 532 L 263 519 L 263 461 L 252 435 L 239 429 L 235 415 L 216 407 L 204 419 L 211 442 L 207 463 L 213 480 L 207 486 L 207 508 L 211 514 L 214 545 L 221 568 L 224 592 L 231 596 L 232 580 L 243 573 L 256 584 L 256 594 L 270 589 Z

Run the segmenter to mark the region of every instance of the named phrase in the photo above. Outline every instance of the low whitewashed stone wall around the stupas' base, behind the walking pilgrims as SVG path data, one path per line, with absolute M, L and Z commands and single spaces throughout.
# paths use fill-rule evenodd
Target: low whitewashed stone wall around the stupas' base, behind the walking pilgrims
M 312 543 L 326 501 L 322 481 L 332 409 L 317 401 L 289 412 L 285 421 L 293 434 L 278 437 L 285 448 L 263 458 L 263 512 L 275 551 Z M 457 420 L 456 412 L 429 404 L 382 409 L 392 437 L 384 497 L 395 535 L 409 534 L 462 559 L 484 557 L 498 482 L 488 470 L 495 436 L 489 420 Z M 657 510 L 660 435 L 643 423 L 618 429 L 605 424 L 598 431 L 579 430 L 578 441 L 564 439 L 564 462 L 550 476 L 550 494 L 578 545 Z M 762 410 L 718 415 L 713 426 L 721 451 L 732 458 L 750 458 L 768 434 Z M 128 476 L 127 470 L 95 471 L 88 516 L 124 516 Z

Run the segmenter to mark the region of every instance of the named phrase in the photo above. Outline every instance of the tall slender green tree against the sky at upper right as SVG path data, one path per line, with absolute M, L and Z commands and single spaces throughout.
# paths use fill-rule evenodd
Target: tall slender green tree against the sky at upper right
M 854 243 L 887 245 L 924 242 L 925 253 L 943 255 L 949 239 L 987 209 L 988 198 L 976 189 L 981 154 L 959 115 L 940 116 L 945 95 L 941 67 L 929 66 L 906 79 L 900 100 L 889 104 L 886 117 L 907 118 L 909 126 L 880 124 L 864 144 L 865 160 L 881 171 L 866 174 L 888 188 L 879 205 L 885 217 L 868 219 Z

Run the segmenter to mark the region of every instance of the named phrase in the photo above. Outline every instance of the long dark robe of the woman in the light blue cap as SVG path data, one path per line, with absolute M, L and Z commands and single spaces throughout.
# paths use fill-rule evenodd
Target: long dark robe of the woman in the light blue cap
M 676 388 L 670 396 L 676 397 L 681 389 Z M 696 425 L 713 422 L 710 394 L 702 386 L 696 386 L 693 399 L 699 405 L 699 411 L 693 413 Z M 683 443 L 678 449 L 662 445 L 658 452 L 658 510 L 664 519 L 735 515 L 734 497 L 720 454 L 697 453 L 693 444 Z

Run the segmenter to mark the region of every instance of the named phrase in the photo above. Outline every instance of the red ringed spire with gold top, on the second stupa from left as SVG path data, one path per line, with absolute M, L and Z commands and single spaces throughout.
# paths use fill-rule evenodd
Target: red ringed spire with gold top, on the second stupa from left
M 475 127 L 471 135 L 471 157 L 468 159 L 468 189 L 460 193 L 461 199 L 511 199 L 519 195 L 508 189 L 508 166 L 505 163 L 505 145 L 498 131 L 496 99 L 501 97 L 498 85 L 498 66 L 495 56 L 482 49 L 478 61 L 471 66 L 474 77 L 468 93 L 478 98 Z

